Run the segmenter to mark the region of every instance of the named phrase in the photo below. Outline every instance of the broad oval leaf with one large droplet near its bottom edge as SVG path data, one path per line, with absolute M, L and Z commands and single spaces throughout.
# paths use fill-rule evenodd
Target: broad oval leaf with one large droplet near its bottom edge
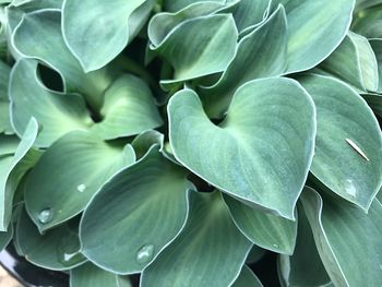
M 187 175 L 153 146 L 105 184 L 86 207 L 81 222 L 82 252 L 112 272 L 141 272 L 186 220 L 186 191 L 192 187 Z

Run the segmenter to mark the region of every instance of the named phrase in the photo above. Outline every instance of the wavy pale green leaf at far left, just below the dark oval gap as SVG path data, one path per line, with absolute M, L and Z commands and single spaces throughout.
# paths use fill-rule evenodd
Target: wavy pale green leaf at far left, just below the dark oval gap
M 37 79 L 37 61 L 20 59 L 10 79 L 12 123 L 22 134 L 31 117 L 37 119 L 41 131 L 36 145 L 47 147 L 73 130 L 86 130 L 93 123 L 85 101 L 80 95 L 47 89 Z

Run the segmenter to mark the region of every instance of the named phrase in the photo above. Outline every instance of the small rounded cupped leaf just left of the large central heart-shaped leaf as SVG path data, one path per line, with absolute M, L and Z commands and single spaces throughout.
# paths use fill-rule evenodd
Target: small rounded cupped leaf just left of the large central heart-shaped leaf
M 122 75 L 105 92 L 103 121 L 92 131 L 106 140 L 130 136 L 163 124 L 148 86 L 139 77 Z

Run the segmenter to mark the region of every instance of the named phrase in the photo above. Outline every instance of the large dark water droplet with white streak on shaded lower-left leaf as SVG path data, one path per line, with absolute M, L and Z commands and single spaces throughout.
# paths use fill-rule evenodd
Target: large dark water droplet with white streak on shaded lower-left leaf
M 61 238 L 57 244 L 57 256 L 64 266 L 73 266 L 84 261 L 80 252 L 80 240 L 76 235 L 69 234 Z

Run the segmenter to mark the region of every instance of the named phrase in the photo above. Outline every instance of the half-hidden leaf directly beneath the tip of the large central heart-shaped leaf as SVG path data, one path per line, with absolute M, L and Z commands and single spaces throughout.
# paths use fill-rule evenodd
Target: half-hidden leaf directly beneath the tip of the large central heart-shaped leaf
M 253 243 L 277 253 L 294 252 L 297 222 L 252 208 L 230 196 L 224 199 L 235 224 Z

